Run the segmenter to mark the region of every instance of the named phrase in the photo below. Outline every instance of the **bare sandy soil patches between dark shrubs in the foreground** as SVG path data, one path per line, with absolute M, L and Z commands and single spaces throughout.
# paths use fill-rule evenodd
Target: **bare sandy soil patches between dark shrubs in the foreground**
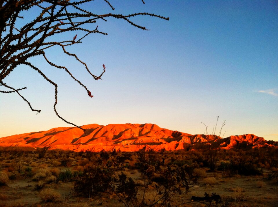
M 140 175 L 137 171 L 126 171 L 127 174 L 138 182 Z M 229 202 L 229 206 L 278 206 L 278 186 L 273 185 L 262 176 L 223 176 L 222 172 L 206 172 L 205 177 L 199 178 L 199 184 L 191 187 L 185 195 L 174 197 L 175 204 L 179 206 L 206 206 L 200 202 L 192 202 L 191 196 L 204 196 L 204 193 L 220 195 L 222 201 Z M 215 178 L 215 184 L 206 184 L 208 178 Z M 10 180 L 8 186 L 0 187 L 0 206 L 124 206 L 118 202 L 116 195 L 103 193 L 93 199 L 74 197 L 72 190 L 74 182 L 59 182 L 47 184 L 45 188 L 52 188 L 59 192 L 61 197 L 55 203 L 42 203 L 34 189 L 35 181 L 32 178 Z M 148 192 L 149 194 L 152 191 Z

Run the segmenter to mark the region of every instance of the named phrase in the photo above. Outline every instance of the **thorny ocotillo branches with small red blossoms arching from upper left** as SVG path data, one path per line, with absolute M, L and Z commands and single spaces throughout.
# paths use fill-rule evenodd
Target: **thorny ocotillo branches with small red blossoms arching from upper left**
M 109 0 L 105 1 L 112 10 L 115 8 L 111 5 Z M 145 4 L 144 0 L 141 0 Z M 101 79 L 101 76 L 105 72 L 105 65 L 103 65 L 103 72 L 96 76 L 90 72 L 87 65 L 81 61 L 76 54 L 69 53 L 66 51 L 65 46 L 70 46 L 73 44 L 80 44 L 83 38 L 87 37 L 92 33 L 99 33 L 107 35 L 107 33 L 98 31 L 98 26 L 95 29 L 90 29 L 89 24 L 96 23 L 97 20 L 107 21 L 107 18 L 117 18 L 123 19 L 127 23 L 142 29 L 147 30 L 145 27 L 134 23 L 130 18 L 134 16 L 152 16 L 156 18 L 161 18 L 164 20 L 169 20 L 169 17 L 160 16 L 157 14 L 151 14 L 146 12 L 133 13 L 128 15 L 122 14 L 94 14 L 87 9 L 83 9 L 85 3 L 92 3 L 93 0 L 0 0 L 0 87 L 5 87 L 11 89 L 11 91 L 0 90 L 1 93 L 13 93 L 16 92 L 25 102 L 28 103 L 32 111 L 40 112 L 41 110 L 33 109 L 30 102 L 24 98 L 19 91 L 26 89 L 26 87 L 14 89 L 14 87 L 4 83 L 4 79 L 19 65 L 28 65 L 30 68 L 38 71 L 43 78 L 54 85 L 55 87 L 55 103 L 54 112 L 55 114 L 64 122 L 72 124 L 80 129 L 83 129 L 71 122 L 66 121 L 62 118 L 57 110 L 57 88 L 58 85 L 51 81 L 39 68 L 35 67 L 29 61 L 29 58 L 38 55 L 43 55 L 45 61 L 53 67 L 65 70 L 72 79 L 78 82 L 79 85 L 85 88 L 89 97 L 93 97 L 89 89 L 77 80 L 71 72 L 65 66 L 58 66 L 52 63 L 45 56 L 45 50 L 53 46 L 61 46 L 63 52 L 69 56 L 73 56 L 78 62 L 83 64 L 87 72 L 95 79 Z M 17 20 L 23 19 L 23 11 L 28 11 L 31 8 L 39 9 L 40 12 L 34 19 L 30 22 L 25 23 L 25 25 L 18 27 Z M 90 7 L 87 7 L 90 8 Z M 33 14 L 36 15 L 36 14 Z M 23 19 L 24 20 L 24 19 Z M 22 20 L 21 20 L 22 22 Z M 23 21 L 24 22 L 24 21 Z M 74 32 L 75 36 L 72 39 L 66 39 L 61 41 L 49 41 L 49 38 L 55 36 L 56 34 Z M 80 33 L 78 33 L 80 32 Z M 77 35 L 78 33 L 78 35 Z M 78 40 L 76 37 L 80 36 Z M 52 38 L 53 39 L 53 38 Z M 84 129 L 83 129 L 84 130 Z

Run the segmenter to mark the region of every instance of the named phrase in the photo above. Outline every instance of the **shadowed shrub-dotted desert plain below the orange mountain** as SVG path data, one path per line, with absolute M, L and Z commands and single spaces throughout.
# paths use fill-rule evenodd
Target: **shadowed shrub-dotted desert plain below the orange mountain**
M 277 158 L 268 160 L 268 151 L 96 153 L 2 147 L 0 205 L 278 206 L 278 169 L 272 166 Z M 214 170 L 211 155 L 215 156 Z M 130 192 L 133 197 L 128 200 Z M 191 200 L 204 193 L 221 199 Z

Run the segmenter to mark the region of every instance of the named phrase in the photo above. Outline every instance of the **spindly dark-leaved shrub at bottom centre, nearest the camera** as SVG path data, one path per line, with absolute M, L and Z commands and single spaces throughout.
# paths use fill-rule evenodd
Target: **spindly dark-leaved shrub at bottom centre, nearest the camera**
M 143 194 L 138 194 L 138 186 L 131 178 L 128 178 L 123 173 L 119 175 L 118 179 L 114 178 L 116 186 L 116 194 L 120 201 L 125 206 L 171 206 L 171 198 L 174 194 L 183 194 L 189 191 L 191 184 L 193 184 L 192 177 L 188 173 L 189 167 L 186 166 L 170 166 L 166 169 L 156 169 L 156 166 L 144 165 L 141 176 L 144 180 L 142 184 Z M 192 171 L 189 170 L 192 175 Z M 196 180 L 194 180 L 196 182 Z M 149 191 L 150 184 L 154 185 L 155 193 Z M 127 200 L 125 198 L 131 198 Z

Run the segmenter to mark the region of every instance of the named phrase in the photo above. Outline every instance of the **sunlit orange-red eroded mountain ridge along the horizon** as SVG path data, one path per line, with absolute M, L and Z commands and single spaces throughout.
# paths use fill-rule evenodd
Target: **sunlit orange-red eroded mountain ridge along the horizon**
M 220 138 L 216 135 L 191 135 L 160 128 L 156 124 L 89 124 L 76 127 L 58 127 L 47 131 L 25 133 L 0 138 L 0 146 L 44 147 L 63 150 L 121 150 L 138 151 L 144 146 L 156 150 L 187 149 L 189 144 L 213 142 L 217 147 L 243 148 L 278 146 L 278 142 L 266 141 L 253 134 Z

